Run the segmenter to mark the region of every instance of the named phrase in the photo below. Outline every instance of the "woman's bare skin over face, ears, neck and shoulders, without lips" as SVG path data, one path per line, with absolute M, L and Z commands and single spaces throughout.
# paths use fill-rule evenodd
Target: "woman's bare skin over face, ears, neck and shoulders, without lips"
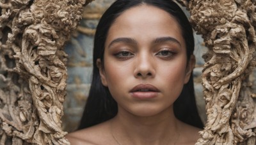
M 169 13 L 148 5 L 124 11 L 109 29 L 104 64 L 97 60 L 97 66 L 102 84 L 118 104 L 118 114 L 68 134 L 71 144 L 118 145 L 113 135 L 122 145 L 195 144 L 200 129 L 182 123 L 173 113 L 173 102 L 188 83 L 195 57 L 187 64 L 179 24 Z M 152 98 L 135 98 L 130 91 L 139 84 L 154 85 L 159 92 Z

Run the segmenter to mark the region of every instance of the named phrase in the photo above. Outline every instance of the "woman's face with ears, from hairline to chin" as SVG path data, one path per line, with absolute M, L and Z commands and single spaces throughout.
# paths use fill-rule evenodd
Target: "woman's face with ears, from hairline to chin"
M 111 25 L 104 64 L 97 60 L 102 84 L 118 111 L 153 116 L 171 108 L 195 64 L 187 66 L 186 45 L 177 21 L 154 6 L 124 11 Z

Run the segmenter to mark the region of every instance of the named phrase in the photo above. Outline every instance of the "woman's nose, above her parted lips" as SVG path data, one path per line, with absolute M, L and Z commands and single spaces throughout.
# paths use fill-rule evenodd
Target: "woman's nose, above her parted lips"
M 135 61 L 135 78 L 153 78 L 156 74 L 154 59 L 145 53 L 138 55 Z

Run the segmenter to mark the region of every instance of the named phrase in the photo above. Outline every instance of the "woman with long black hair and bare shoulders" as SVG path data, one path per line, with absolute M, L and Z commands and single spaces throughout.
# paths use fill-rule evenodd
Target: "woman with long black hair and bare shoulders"
M 202 122 L 193 49 L 191 26 L 173 1 L 113 3 L 97 27 L 92 86 L 71 144 L 195 144 Z

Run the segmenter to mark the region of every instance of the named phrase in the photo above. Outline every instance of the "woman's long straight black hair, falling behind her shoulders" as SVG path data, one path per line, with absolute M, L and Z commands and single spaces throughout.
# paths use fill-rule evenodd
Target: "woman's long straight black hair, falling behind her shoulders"
M 141 4 L 148 4 L 156 6 L 162 10 L 170 13 L 180 25 L 182 36 L 186 43 L 187 60 L 194 51 L 193 30 L 189 24 L 188 18 L 180 7 L 171 0 L 117 0 L 100 18 L 95 33 L 94 50 L 93 50 L 93 78 L 90 88 L 90 93 L 84 108 L 83 117 L 78 129 L 92 127 L 106 120 L 113 118 L 117 111 L 116 101 L 111 96 L 108 88 L 103 86 L 100 81 L 99 69 L 96 61 L 100 59 L 104 62 L 104 45 L 108 31 L 116 18 L 125 10 Z M 136 26 L 134 26 L 136 27 Z M 200 120 L 196 109 L 195 93 L 193 86 L 193 75 L 191 75 L 189 82 L 184 85 L 182 93 L 173 105 L 175 116 L 190 125 L 203 128 L 204 125 Z

